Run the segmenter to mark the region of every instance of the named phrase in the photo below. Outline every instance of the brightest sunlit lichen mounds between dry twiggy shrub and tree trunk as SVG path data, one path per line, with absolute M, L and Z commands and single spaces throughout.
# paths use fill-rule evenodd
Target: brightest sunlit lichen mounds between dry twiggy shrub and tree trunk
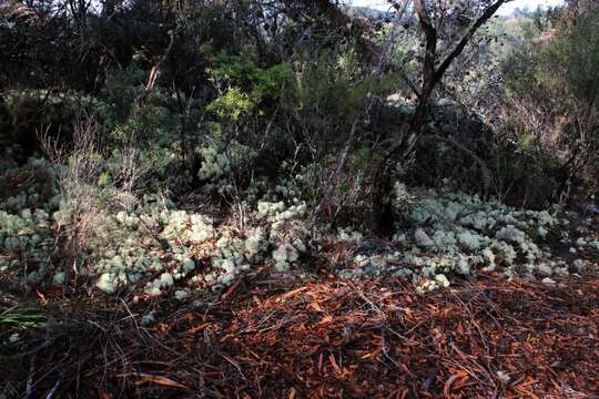
M 284 203 L 260 202 L 253 215 L 258 225 L 237 232 L 226 225 L 216 228 L 212 219 L 200 214 L 162 211 L 153 222 L 162 226 L 160 236 L 169 243 L 169 254 L 159 258 L 155 245 L 153 249 L 138 248 L 135 254 L 123 248 L 108 252 L 92 268 L 100 276 L 97 287 L 113 294 L 119 287 L 132 288 L 148 280 L 148 276 L 161 273 L 144 286 L 148 295 L 158 296 L 182 284 L 191 288 L 226 287 L 252 265 L 264 262 L 276 272 L 296 266 L 306 249 L 305 205 L 287 207 Z M 123 214 L 119 219 L 130 225 L 136 223 L 135 217 Z M 199 270 L 197 264 L 210 267 Z M 185 297 L 183 293 L 189 295 L 189 288 L 174 290 L 180 299 Z

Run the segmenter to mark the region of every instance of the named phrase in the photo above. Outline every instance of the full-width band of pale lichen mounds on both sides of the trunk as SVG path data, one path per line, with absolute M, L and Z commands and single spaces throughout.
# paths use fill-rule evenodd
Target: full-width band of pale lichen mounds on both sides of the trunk
M 281 181 L 253 186 L 234 213 L 219 218 L 207 209 L 184 211 L 185 203 L 167 193 L 135 197 L 74 170 L 72 156 L 65 165 L 7 163 L 0 180 L 13 191 L 0 202 L 0 272 L 12 288 L 89 286 L 185 299 L 225 288 L 258 266 L 302 274 L 307 263 L 339 248 L 352 254 L 333 266 L 341 278 L 402 275 L 426 290 L 495 270 L 551 284 L 554 275 L 586 272 L 578 252 L 599 250 L 599 242 L 587 238 L 591 221 L 570 233 L 571 216 L 559 208 L 521 211 L 400 182 L 393 194 L 395 234 L 382 245 L 343 223 L 311 225 L 302 187 L 293 182 L 286 183 L 292 190 Z M 19 180 L 23 175 L 29 181 Z M 572 258 L 552 254 L 557 243 L 570 247 Z

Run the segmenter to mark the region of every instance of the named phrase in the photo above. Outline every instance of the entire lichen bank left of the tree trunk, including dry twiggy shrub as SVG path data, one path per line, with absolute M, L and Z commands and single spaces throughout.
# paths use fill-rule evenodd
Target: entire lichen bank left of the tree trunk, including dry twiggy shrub
M 214 158 L 234 161 L 223 153 Z M 74 155 L 67 164 L 31 158 L 6 165 L 0 180 L 12 192 L 0 202 L 0 267 L 17 286 L 92 283 L 109 294 L 143 287 L 160 295 L 182 279 L 189 279 L 186 289 L 227 286 L 265 262 L 286 272 L 306 253 L 306 205 L 298 198 L 286 204 L 248 197 L 240 205 L 240 227 L 235 219 L 216 223 L 177 209 L 167 194 L 138 198 L 99 178 L 106 173 L 102 167 L 77 175 Z M 217 183 L 221 172 L 206 178 Z M 276 196 L 273 187 L 261 198 Z

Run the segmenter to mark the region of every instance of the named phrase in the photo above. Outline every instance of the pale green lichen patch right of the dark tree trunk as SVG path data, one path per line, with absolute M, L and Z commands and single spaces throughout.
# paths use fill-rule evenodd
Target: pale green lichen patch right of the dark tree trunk
M 547 211 L 519 211 L 461 193 L 429 193 L 419 201 L 410 197 L 406 206 L 405 190 L 398 193 L 398 219 L 408 221 L 394 235 L 394 244 L 402 250 L 356 255 L 339 276 L 377 277 L 388 270 L 409 275 L 423 290 L 429 290 L 480 272 L 535 278 L 567 275 L 571 269 L 539 248 L 549 232 L 559 229 L 560 221 Z M 585 265 L 577 260 L 571 266 L 580 270 Z

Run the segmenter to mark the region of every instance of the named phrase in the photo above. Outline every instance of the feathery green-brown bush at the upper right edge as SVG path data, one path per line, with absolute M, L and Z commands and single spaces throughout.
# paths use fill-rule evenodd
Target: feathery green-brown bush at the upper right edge
M 575 8 L 537 19 L 531 29 L 545 30 L 505 63 L 505 126 L 556 192 L 575 180 L 593 186 L 599 175 L 599 18 Z

